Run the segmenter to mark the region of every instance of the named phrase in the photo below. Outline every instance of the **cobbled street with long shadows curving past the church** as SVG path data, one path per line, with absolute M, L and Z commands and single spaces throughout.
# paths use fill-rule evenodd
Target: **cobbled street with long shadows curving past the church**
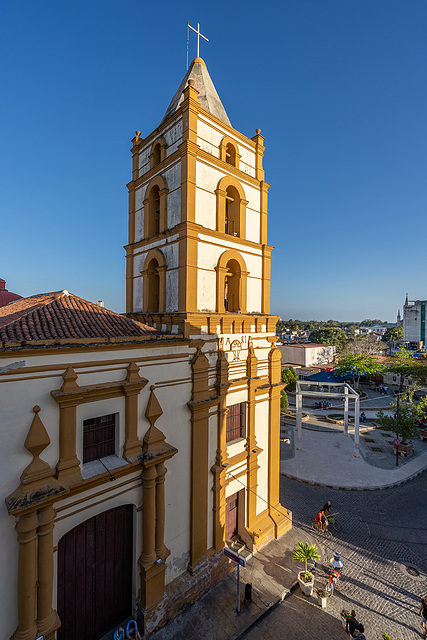
M 319 637 L 344 637 L 343 608 L 356 610 L 368 640 L 380 640 L 383 632 L 392 640 L 422 637 L 416 614 L 419 598 L 427 592 L 427 473 L 379 491 L 337 491 L 282 478 L 281 492 L 282 504 L 292 509 L 294 527 L 302 537 L 327 499 L 339 511 L 343 531 L 326 544 L 314 536 L 322 552 L 316 586 L 326 582 L 332 552 L 342 554 L 339 593 L 322 610 L 297 589 L 244 637 L 305 640 L 316 637 L 313 629 Z M 421 576 L 411 576 L 405 565 L 416 567 Z

